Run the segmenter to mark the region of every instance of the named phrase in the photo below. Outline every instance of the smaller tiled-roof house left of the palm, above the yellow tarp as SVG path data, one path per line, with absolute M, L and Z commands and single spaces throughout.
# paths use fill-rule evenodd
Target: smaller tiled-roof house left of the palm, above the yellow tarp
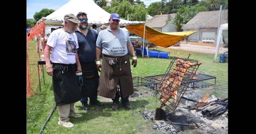
M 176 32 L 175 25 L 172 23 L 166 23 L 170 20 L 170 17 L 175 17 L 175 14 L 155 15 L 153 18 L 146 22 L 146 25 L 152 27 L 160 32 Z M 172 20 L 172 19 L 171 19 Z

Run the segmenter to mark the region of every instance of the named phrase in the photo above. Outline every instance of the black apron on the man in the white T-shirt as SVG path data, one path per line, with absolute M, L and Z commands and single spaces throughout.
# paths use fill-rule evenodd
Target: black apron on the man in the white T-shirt
M 52 63 L 52 86 L 57 106 L 75 103 L 81 99 L 75 65 Z

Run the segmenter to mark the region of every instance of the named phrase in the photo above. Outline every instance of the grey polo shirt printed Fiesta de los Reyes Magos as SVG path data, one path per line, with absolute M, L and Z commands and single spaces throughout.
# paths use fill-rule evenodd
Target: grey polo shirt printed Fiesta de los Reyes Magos
M 131 40 L 125 30 L 118 28 L 116 35 L 114 35 L 108 27 L 100 31 L 96 47 L 102 48 L 102 53 L 106 55 L 124 56 L 128 53 L 127 44 L 129 43 Z

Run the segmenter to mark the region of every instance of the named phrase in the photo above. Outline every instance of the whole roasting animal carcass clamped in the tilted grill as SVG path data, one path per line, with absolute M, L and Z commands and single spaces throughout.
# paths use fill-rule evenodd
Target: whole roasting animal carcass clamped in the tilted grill
M 165 106 L 167 100 L 174 96 L 174 103 L 177 102 L 177 93 L 180 83 L 182 82 L 183 76 L 188 68 L 196 65 L 201 65 L 202 63 L 190 63 L 189 61 L 184 61 L 180 59 L 179 53 L 177 53 L 178 59 L 176 66 L 174 67 L 172 73 L 170 73 L 170 77 L 167 80 L 163 81 L 163 86 L 161 89 L 157 89 L 158 91 L 162 91 L 160 100 L 161 100 L 161 107 Z M 176 106 L 178 104 L 176 103 Z

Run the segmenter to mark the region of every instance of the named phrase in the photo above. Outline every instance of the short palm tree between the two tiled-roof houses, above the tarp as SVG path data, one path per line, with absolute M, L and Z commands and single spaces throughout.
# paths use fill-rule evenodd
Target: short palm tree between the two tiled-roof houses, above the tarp
M 173 23 L 175 25 L 175 29 L 177 32 L 182 32 L 183 29 L 181 29 L 183 27 L 184 21 L 185 21 L 185 17 L 180 15 L 179 13 L 176 13 L 176 16 L 173 18 L 171 17 L 173 20 L 167 20 L 166 23 Z

